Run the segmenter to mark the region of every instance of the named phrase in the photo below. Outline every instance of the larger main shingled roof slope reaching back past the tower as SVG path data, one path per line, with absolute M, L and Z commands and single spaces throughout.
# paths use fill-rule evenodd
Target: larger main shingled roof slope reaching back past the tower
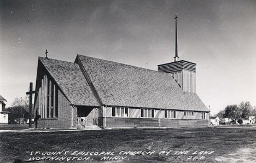
M 194 93 L 179 88 L 171 74 L 78 55 L 103 104 L 140 108 L 208 108 Z

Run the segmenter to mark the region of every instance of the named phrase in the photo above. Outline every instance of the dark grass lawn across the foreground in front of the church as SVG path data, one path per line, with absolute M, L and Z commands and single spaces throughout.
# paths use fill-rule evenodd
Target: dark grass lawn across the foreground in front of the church
M 106 162 L 103 156 L 127 156 L 121 162 L 245 162 L 256 161 L 256 128 L 200 128 L 200 129 L 148 129 L 148 130 L 97 130 L 69 132 L 25 132 L 0 133 L 0 162 L 14 159 L 28 160 L 31 152 L 68 151 L 66 155 L 78 152 L 114 152 L 114 155 L 92 155 L 88 162 Z M 152 155 L 119 155 L 121 151 L 153 152 Z M 159 154 L 170 151 L 168 155 Z M 189 150 L 187 154 L 176 151 Z M 197 152 L 196 152 L 197 151 Z M 199 151 L 214 151 L 211 155 L 200 155 Z M 196 152 L 196 153 L 194 153 Z M 194 155 L 192 155 L 194 153 Z M 123 154 L 123 153 L 122 153 Z M 242 154 L 242 155 L 241 155 Z M 51 155 L 53 156 L 53 155 Z M 89 157 L 84 155 L 83 157 Z M 190 157 L 191 156 L 191 157 Z M 200 158 L 202 160 L 189 160 Z M 77 160 L 74 160 L 77 161 Z M 74 162 L 70 160 L 69 162 Z M 112 162 L 112 160 L 108 160 Z M 42 161 L 39 161 L 42 162 Z M 44 161 L 56 162 L 56 161 Z M 67 162 L 67 160 L 65 160 Z

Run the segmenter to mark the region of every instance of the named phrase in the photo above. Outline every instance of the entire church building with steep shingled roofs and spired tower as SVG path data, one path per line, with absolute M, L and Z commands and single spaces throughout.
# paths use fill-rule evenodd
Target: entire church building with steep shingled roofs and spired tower
M 84 55 L 74 63 L 39 57 L 38 127 L 208 126 L 210 110 L 196 95 L 196 64 L 178 58 L 177 23 L 174 62 L 158 71 Z

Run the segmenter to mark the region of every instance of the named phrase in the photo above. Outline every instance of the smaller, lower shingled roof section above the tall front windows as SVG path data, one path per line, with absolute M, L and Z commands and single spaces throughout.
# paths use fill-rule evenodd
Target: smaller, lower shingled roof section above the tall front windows
M 44 57 L 39 60 L 72 104 L 99 106 L 77 63 Z

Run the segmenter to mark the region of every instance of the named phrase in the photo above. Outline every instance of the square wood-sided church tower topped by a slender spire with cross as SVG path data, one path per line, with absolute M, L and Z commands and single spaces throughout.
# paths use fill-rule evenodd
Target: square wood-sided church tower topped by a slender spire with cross
M 158 71 L 170 73 L 185 92 L 196 93 L 196 63 L 180 60 L 177 43 L 177 15 L 175 16 L 175 56 L 174 62 L 158 65 Z

